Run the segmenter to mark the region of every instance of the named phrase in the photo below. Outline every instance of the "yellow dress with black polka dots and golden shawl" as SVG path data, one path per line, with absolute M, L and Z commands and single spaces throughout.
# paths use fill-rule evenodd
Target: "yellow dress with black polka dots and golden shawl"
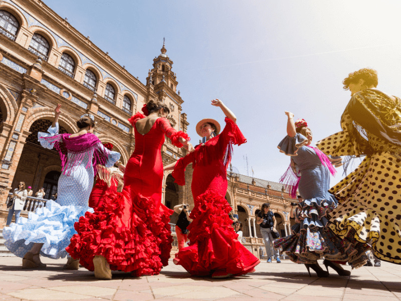
M 376 257 L 397 264 L 401 264 L 400 103 L 375 89 L 360 91 L 341 117 L 343 131 L 317 143 L 328 155 L 365 155 L 330 189 L 339 203 L 328 227 L 341 238 L 352 233 L 357 241 L 370 243 Z

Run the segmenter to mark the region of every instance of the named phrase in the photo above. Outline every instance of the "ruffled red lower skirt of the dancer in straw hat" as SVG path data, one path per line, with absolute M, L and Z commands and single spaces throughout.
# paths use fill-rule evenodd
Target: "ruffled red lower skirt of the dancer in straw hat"
M 230 211 L 227 200 L 214 190 L 198 196 L 190 214 L 193 221 L 187 227 L 189 246 L 175 254 L 175 262 L 195 276 L 215 272 L 242 275 L 259 264 L 259 259 L 238 241 Z

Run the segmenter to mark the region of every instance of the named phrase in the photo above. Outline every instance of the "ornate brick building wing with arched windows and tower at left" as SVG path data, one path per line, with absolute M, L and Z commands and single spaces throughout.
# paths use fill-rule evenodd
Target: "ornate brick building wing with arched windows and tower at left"
M 0 1 L 0 225 L 7 195 L 19 181 L 34 192 L 45 187 L 45 198 L 57 191 L 61 161 L 37 141 L 38 131 L 52 123 L 57 103 L 62 104 L 61 132 L 76 131 L 75 120 L 92 113 L 95 134 L 114 144 L 124 164 L 135 143 L 127 119 L 148 100 L 165 102 L 173 127 L 186 131 L 172 64 L 163 43 L 143 84 L 42 1 Z M 165 163 L 183 155 L 168 140 L 163 145 Z M 167 196 L 169 206 L 177 202 L 171 199 L 177 191 L 170 188 L 166 177 L 163 202 Z

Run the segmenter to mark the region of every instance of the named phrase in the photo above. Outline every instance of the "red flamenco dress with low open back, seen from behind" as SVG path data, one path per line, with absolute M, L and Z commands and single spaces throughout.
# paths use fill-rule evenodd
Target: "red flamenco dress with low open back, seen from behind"
M 86 213 L 75 223 L 75 234 L 67 252 L 93 271 L 93 258 L 106 258 L 112 270 L 132 272 L 134 276 L 158 274 L 168 264 L 172 236 L 169 216 L 172 210 L 161 204 L 163 164 L 161 146 L 164 135 L 177 147 L 182 131 L 173 129 L 166 118 L 158 118 L 146 134 L 136 129 L 136 113 L 129 121 L 135 131 L 135 150 L 124 174 L 121 193 L 109 192 L 102 208 Z

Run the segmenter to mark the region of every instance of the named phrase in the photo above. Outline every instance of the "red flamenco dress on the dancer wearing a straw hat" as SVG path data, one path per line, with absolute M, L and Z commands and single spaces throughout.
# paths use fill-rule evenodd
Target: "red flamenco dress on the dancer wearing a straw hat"
M 195 206 L 190 214 L 189 246 L 175 254 L 174 263 L 182 265 L 194 276 L 242 275 L 257 264 L 256 258 L 241 242 L 231 226 L 232 210 L 225 199 L 227 166 L 231 160 L 232 143 L 247 140 L 231 119 L 225 119 L 223 131 L 194 152 L 177 161 L 172 176 L 178 185 L 185 184 L 185 167 L 192 163 L 192 195 Z

